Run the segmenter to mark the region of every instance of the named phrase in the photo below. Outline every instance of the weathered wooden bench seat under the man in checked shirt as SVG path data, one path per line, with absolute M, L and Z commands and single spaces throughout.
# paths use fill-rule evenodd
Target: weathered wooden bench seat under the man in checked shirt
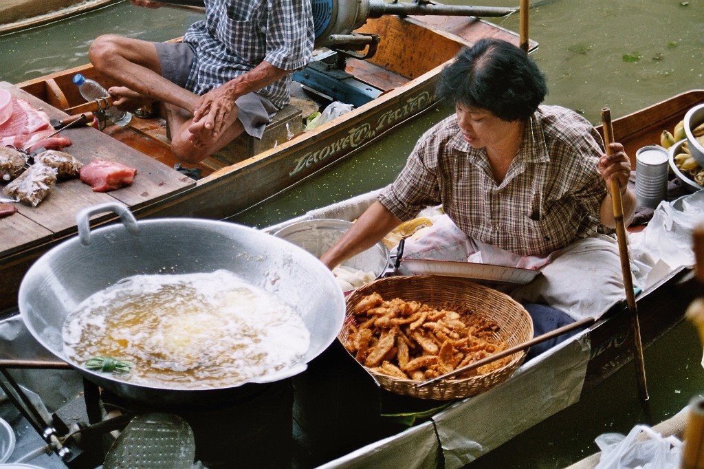
M 272 121 L 266 126 L 261 139 L 243 133 L 219 151 L 208 156 L 202 163 L 208 168 L 219 170 L 272 149 L 277 144 L 288 142 L 289 137 L 301 132 L 303 132 L 301 109 L 287 104 L 274 115 Z

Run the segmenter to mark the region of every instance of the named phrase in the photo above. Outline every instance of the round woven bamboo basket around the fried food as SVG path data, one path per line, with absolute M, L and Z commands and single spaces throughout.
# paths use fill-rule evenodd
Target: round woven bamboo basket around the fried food
M 420 301 L 436 308 L 448 305 L 466 308 L 467 311 L 498 324 L 499 329 L 494 338 L 506 342 L 508 347 L 533 338 L 533 321 L 530 315 L 508 295 L 460 277 L 413 275 L 375 280 L 348 296 L 345 322 L 337 336 L 342 344 L 346 344 L 351 326 L 357 325 L 353 313 L 354 306 L 363 296 L 374 292 L 380 294 L 384 300 L 401 298 L 404 301 Z M 508 363 L 490 373 L 443 380 L 424 387 L 417 387 L 422 381 L 391 377 L 377 373 L 362 363 L 360 366 L 388 391 L 419 399 L 448 400 L 473 396 L 501 384 L 523 363 L 525 356 L 526 352 L 520 351 L 513 354 Z

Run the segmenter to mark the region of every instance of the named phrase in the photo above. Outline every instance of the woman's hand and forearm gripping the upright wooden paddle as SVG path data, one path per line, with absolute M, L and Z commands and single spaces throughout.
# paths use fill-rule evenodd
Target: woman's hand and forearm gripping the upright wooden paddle
M 611 200 L 611 185 L 609 181 L 612 177 L 619 183 L 621 188 L 621 201 L 623 204 L 623 218 L 626 226 L 633 221 L 633 215 L 636 213 L 636 196 L 628 188 L 628 180 L 631 175 L 631 160 L 623 149 L 623 145 L 617 142 L 611 143 L 610 156 L 603 155 L 599 158 L 598 170 L 601 177 L 606 182 L 608 194 L 601 201 L 601 211 L 599 213 L 601 223 L 607 227 L 615 228 L 616 220 Z

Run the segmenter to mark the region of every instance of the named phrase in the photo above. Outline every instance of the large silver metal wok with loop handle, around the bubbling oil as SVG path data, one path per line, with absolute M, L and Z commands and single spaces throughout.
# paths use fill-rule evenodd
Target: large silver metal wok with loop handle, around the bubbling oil
M 122 223 L 91 231 L 89 217 L 114 211 Z M 317 258 L 250 227 L 214 220 L 134 220 L 121 204 L 87 208 L 77 215 L 78 237 L 37 260 L 20 284 L 23 321 L 40 344 L 89 380 L 127 399 L 148 404 L 212 404 L 256 392 L 263 383 L 291 377 L 332 343 L 342 326 L 344 296 Z M 208 389 L 168 389 L 130 384 L 72 363 L 63 353 L 66 315 L 88 296 L 125 277 L 154 273 L 210 273 L 227 269 L 279 296 L 298 311 L 310 331 L 301 363 L 245 384 Z

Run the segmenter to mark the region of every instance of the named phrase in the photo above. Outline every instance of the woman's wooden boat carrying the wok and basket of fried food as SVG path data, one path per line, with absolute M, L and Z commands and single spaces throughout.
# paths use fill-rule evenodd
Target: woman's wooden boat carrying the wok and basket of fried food
M 640 146 L 657 142 L 663 128 L 672 127 L 689 108 L 702 101 L 704 90 L 679 94 L 615 120 L 615 135 L 633 155 Z M 348 216 L 356 217 L 373 199 L 372 194 L 356 198 L 355 204 L 349 205 L 356 212 L 348 211 Z M 313 211 L 289 223 L 311 217 L 326 218 L 331 210 L 337 211 L 337 207 Z M 675 268 L 642 292 L 637 304 L 643 344 L 648 346 L 670 330 L 681 320 L 692 299 L 702 294 L 703 287 L 692 271 L 684 267 Z M 23 348 L 27 346 L 32 339 L 26 330 L 25 334 L 17 332 L 21 329 L 18 316 L 13 315 L 8 321 L 19 323 L 13 326 L 13 337 L 23 342 Z M 524 363 L 505 383 L 455 401 L 449 407 L 444 402 L 419 401 L 379 389 L 336 342 L 311 362 L 306 372 L 294 378 L 290 396 L 294 441 L 285 444 L 277 440 L 282 442 L 277 446 L 278 451 L 264 456 L 290 458 L 303 467 L 408 465 L 416 468 L 436 467 L 439 463 L 448 468 L 462 467 L 579 401 L 586 390 L 631 359 L 630 334 L 627 307 L 615 304 L 588 331 Z M 0 358 L 5 357 L 0 354 Z M 42 379 L 45 377 L 42 375 Z M 635 394 L 635 382 L 633 385 Z M 259 404 L 263 406 L 256 407 L 252 401 L 245 404 L 254 409 L 256 418 L 272 407 L 272 401 Z M 238 410 L 241 411 L 243 407 Z M 408 427 L 409 418 L 413 420 L 419 412 L 429 420 Z M 399 423 L 399 419 L 406 424 Z M 253 425 L 265 432 L 265 424 L 258 422 Z M 284 430 L 290 432 L 291 421 L 284 423 Z M 219 439 L 223 438 L 221 430 L 220 427 L 213 430 L 218 432 Z M 242 435 L 254 433 L 248 425 Z M 246 446 L 246 437 L 242 438 L 245 446 L 242 449 L 237 446 L 238 458 L 248 461 L 249 457 L 264 457 L 260 447 Z M 229 454 L 237 444 L 238 439 L 227 439 Z M 252 451 L 252 447 L 256 449 Z

